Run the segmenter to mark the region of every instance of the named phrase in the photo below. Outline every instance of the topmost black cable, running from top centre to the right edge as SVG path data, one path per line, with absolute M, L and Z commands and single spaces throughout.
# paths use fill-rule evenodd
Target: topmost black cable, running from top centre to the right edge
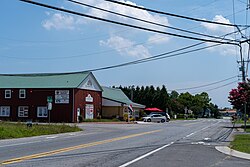
M 154 12 L 154 13 L 158 13 L 158 14 L 164 14 L 164 15 L 168 15 L 168 16 L 188 19 L 188 20 L 192 20 L 192 21 L 205 22 L 205 23 L 211 23 L 211 24 L 218 24 L 218 25 L 224 25 L 224 26 L 234 26 L 234 27 L 249 27 L 250 26 L 250 25 L 239 25 L 239 24 L 236 25 L 236 24 L 228 24 L 228 23 L 221 23 L 221 22 L 197 19 L 197 18 L 193 18 L 193 17 L 187 17 L 187 16 L 183 16 L 183 15 L 177 15 L 177 14 L 158 11 L 158 10 L 149 9 L 149 8 L 145 8 L 145 7 L 135 6 L 135 5 L 131 5 L 131 4 L 115 1 L 115 0 L 105 0 L 105 1 L 116 3 L 116 4 L 119 4 L 119 5 L 128 6 L 128 7 L 132 7 L 132 8 L 137 8 L 137 9 L 141 9 L 141 10 L 146 10 L 146 11 Z

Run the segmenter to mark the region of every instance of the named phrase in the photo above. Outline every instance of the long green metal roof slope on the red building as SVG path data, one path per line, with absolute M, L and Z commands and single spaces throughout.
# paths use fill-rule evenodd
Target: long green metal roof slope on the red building
M 1 74 L 0 88 L 77 88 L 89 74 Z

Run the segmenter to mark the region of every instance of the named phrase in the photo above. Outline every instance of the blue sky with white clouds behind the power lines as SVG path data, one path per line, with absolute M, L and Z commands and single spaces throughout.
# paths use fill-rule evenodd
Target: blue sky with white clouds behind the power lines
M 36 0 L 63 9 L 157 31 L 211 39 L 82 6 L 67 0 Z M 76 0 L 165 26 L 211 36 L 234 32 L 234 27 L 209 24 L 126 7 L 104 0 Z M 228 24 L 250 24 L 248 0 L 119 0 L 178 15 Z M 0 2 L 0 73 L 63 73 L 113 66 L 197 44 L 201 41 L 139 30 L 35 6 L 19 0 Z M 242 27 L 241 27 L 242 28 Z M 225 38 L 249 37 L 249 29 Z M 191 48 L 214 45 L 204 42 Z M 191 50 L 190 49 L 190 50 Z M 243 56 L 247 58 L 243 44 Z M 186 51 L 186 50 L 183 50 Z M 219 107 L 231 107 L 228 93 L 241 81 L 239 47 L 220 45 L 175 57 L 94 71 L 104 86 L 162 86 L 169 92 L 206 91 Z M 229 79 L 231 78 L 231 79 Z M 222 81 L 219 82 L 218 81 Z M 212 84 L 211 83 L 217 83 Z M 210 85 L 196 89 L 185 89 Z M 180 90 L 179 90 L 180 89 Z M 183 90 L 184 89 L 184 90 Z

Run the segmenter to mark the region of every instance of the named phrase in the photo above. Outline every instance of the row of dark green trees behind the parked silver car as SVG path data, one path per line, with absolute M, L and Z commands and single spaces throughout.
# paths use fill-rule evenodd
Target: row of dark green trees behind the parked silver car
M 195 117 L 218 117 L 218 106 L 211 103 L 211 98 L 206 92 L 192 95 L 188 92 L 168 93 L 165 85 L 162 87 L 151 86 L 125 86 L 118 87 L 135 103 L 143 104 L 146 107 L 157 107 L 168 111 L 170 115 L 185 114 L 185 111 L 192 111 Z

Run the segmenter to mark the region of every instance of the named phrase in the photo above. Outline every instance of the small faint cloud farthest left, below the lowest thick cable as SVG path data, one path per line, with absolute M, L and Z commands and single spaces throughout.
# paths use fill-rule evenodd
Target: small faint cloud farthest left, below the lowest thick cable
M 42 26 L 47 30 L 50 30 L 52 28 L 55 28 L 56 30 L 62 30 L 62 29 L 74 30 L 76 24 L 77 22 L 74 19 L 74 17 L 69 15 L 64 15 L 61 13 L 55 13 L 51 16 L 51 18 L 42 22 Z

